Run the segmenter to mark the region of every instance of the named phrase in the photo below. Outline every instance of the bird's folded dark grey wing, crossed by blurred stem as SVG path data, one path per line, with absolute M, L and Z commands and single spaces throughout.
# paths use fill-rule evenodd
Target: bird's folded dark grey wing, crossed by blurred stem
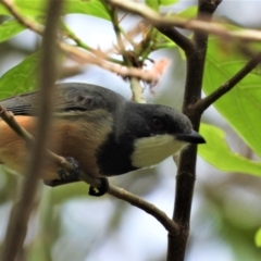
M 67 83 L 58 85 L 55 112 L 91 111 L 96 109 L 113 110 L 124 98 L 112 90 L 95 85 Z M 0 101 L 0 104 L 12 111 L 14 115 L 37 114 L 39 92 L 28 92 Z

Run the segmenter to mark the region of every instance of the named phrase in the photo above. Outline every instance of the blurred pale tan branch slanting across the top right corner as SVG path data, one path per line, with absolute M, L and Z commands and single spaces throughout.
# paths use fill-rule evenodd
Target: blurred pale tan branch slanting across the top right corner
M 210 23 L 199 20 L 187 20 L 178 16 L 163 16 L 152 9 L 148 8 L 144 3 L 137 3 L 129 0 L 107 0 L 113 7 L 117 7 L 127 12 L 139 14 L 145 20 L 147 20 L 156 28 L 158 27 L 170 27 L 176 26 L 184 29 L 201 30 L 206 33 L 211 33 L 224 38 L 238 38 L 241 40 L 261 40 L 261 32 L 254 29 L 244 29 L 244 30 L 228 30 L 225 26 L 217 23 Z M 210 1 L 211 2 L 211 1 Z

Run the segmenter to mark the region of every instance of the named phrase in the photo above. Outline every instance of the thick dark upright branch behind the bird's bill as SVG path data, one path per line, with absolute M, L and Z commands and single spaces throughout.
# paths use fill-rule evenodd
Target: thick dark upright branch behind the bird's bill
M 219 0 L 199 0 L 197 18 L 209 22 Z M 187 76 L 184 94 L 183 112 L 190 119 L 194 128 L 198 130 L 201 113 L 192 105 L 200 99 L 203 78 L 203 67 L 207 52 L 208 33 L 198 30 L 194 34 L 194 50 L 187 54 Z M 173 221 L 179 225 L 177 236 L 169 233 L 167 260 L 183 261 L 189 235 L 190 211 L 196 179 L 197 146 L 189 146 L 181 154 L 176 176 L 176 192 Z

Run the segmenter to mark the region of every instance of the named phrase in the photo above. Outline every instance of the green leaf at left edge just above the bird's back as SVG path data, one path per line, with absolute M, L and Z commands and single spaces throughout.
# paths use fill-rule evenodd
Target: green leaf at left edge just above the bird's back
M 0 99 L 34 90 L 37 84 L 39 53 L 34 53 L 0 78 Z

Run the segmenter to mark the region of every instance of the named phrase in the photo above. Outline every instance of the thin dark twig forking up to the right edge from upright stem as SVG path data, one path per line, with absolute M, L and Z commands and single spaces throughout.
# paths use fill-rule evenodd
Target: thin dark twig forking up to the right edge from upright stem
M 257 67 L 261 62 L 261 52 L 253 57 L 239 72 L 237 72 L 233 77 L 231 77 L 226 83 L 221 85 L 212 94 L 199 100 L 194 109 L 201 111 L 201 113 L 207 110 L 212 103 L 223 97 L 232 88 L 234 88 L 244 77 L 246 77 L 254 67 Z

